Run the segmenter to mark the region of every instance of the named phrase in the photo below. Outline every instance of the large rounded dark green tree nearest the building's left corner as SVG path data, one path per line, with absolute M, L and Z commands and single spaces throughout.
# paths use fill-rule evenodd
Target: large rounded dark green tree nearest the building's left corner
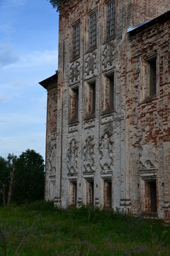
M 26 150 L 15 163 L 12 199 L 17 203 L 44 198 L 44 159 L 34 150 Z

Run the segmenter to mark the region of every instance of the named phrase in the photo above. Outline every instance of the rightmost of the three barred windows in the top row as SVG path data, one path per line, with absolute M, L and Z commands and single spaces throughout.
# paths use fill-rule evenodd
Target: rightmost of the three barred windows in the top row
M 116 0 L 107 4 L 106 14 L 106 39 L 115 35 L 116 25 Z

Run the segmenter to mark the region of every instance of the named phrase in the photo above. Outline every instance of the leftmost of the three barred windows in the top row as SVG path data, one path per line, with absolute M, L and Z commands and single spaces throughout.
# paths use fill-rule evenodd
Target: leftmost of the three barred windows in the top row
M 73 53 L 75 58 L 80 55 L 80 23 L 73 27 Z

